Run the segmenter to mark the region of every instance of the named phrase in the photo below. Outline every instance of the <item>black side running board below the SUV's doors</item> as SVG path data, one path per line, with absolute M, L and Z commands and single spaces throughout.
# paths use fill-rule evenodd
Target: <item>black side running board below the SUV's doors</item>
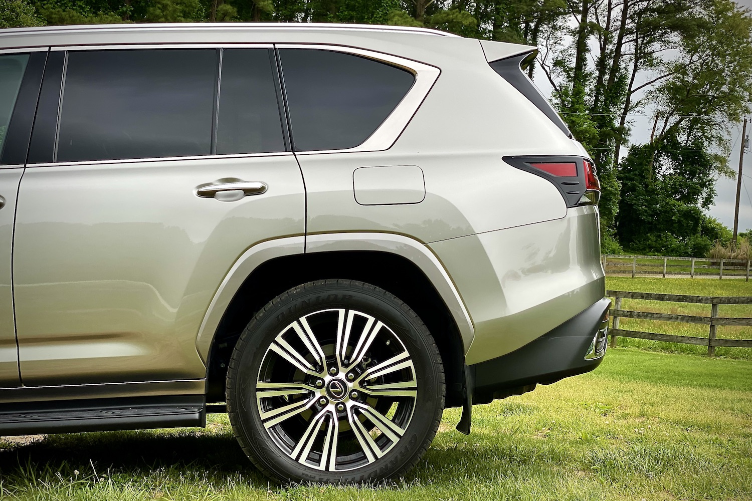
M 0 436 L 205 425 L 203 395 L 0 403 Z

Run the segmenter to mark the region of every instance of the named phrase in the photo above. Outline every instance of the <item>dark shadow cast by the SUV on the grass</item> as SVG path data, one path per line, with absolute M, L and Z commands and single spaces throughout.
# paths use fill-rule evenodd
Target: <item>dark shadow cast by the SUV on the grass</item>
M 469 443 L 465 442 L 464 446 L 429 448 L 404 480 L 408 484 L 412 481 L 451 484 L 459 478 L 472 476 L 476 480 L 493 481 L 510 467 L 529 473 L 541 469 L 538 454 L 526 454 L 511 444 L 492 445 L 481 439 L 482 436 L 468 437 Z M 144 482 L 179 479 L 183 484 L 217 487 L 240 482 L 265 490 L 270 485 L 229 432 L 76 433 L 15 444 L 0 439 L 0 472 L 6 488 L 35 481 L 54 484 L 91 480 L 95 478 L 95 471 L 99 481 L 110 478 L 116 484 L 134 479 Z

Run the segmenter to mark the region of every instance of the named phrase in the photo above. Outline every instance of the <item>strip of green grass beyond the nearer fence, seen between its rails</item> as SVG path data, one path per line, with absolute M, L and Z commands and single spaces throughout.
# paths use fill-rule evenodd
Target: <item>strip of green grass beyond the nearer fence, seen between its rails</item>
M 663 279 L 608 276 L 606 288 L 613 291 L 658 292 L 661 294 L 686 294 L 693 296 L 752 296 L 752 282 L 744 280 L 713 279 Z M 644 312 L 675 313 L 678 315 L 710 316 L 711 305 L 693 303 L 672 303 L 667 301 L 646 301 L 623 299 L 622 309 Z M 752 305 L 722 304 L 718 314 L 723 317 L 752 318 Z M 621 318 L 619 328 L 676 334 L 679 336 L 708 337 L 708 325 L 684 324 L 682 322 L 639 320 Z M 752 340 L 752 326 L 720 325 L 716 336 L 723 339 Z M 707 346 L 663 343 L 660 341 L 637 340 L 626 337 L 618 338 L 619 346 L 632 346 L 661 352 L 689 353 L 702 355 L 708 352 Z M 716 348 L 720 357 L 742 358 L 752 360 L 750 348 Z

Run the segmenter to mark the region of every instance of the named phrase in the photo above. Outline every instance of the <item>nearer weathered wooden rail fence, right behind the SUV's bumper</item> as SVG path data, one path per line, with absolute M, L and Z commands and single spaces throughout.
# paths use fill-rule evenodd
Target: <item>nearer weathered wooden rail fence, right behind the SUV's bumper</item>
M 606 295 L 614 297 L 614 307 L 608 312 L 614 318 L 611 335 L 611 346 L 616 346 L 616 338 L 636 337 L 641 340 L 666 341 L 668 343 L 684 343 L 700 346 L 708 346 L 708 355 L 715 355 L 716 346 L 732 346 L 737 348 L 752 348 L 752 340 L 723 340 L 717 339 L 716 330 L 718 325 L 752 325 L 752 318 L 720 317 L 718 316 L 719 304 L 752 304 L 752 297 L 731 296 L 683 296 L 679 294 L 653 294 L 650 292 L 626 292 L 607 291 Z M 672 301 L 675 303 L 700 303 L 711 305 L 709 317 L 694 315 L 675 315 L 672 313 L 641 312 L 630 309 L 621 309 L 622 299 L 644 299 L 651 301 Z M 620 318 L 642 318 L 645 320 L 678 321 L 688 324 L 708 325 L 708 337 L 675 336 L 657 332 L 642 332 L 640 330 L 625 330 L 619 328 Z

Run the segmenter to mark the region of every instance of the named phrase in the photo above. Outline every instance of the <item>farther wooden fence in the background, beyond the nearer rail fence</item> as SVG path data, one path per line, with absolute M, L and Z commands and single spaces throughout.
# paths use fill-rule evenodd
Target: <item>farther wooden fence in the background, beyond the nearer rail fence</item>
M 629 275 L 632 278 L 642 275 L 689 275 L 718 277 L 719 279 L 744 277 L 750 279 L 750 260 L 680 258 L 663 255 L 601 255 L 603 269 L 607 275 Z

